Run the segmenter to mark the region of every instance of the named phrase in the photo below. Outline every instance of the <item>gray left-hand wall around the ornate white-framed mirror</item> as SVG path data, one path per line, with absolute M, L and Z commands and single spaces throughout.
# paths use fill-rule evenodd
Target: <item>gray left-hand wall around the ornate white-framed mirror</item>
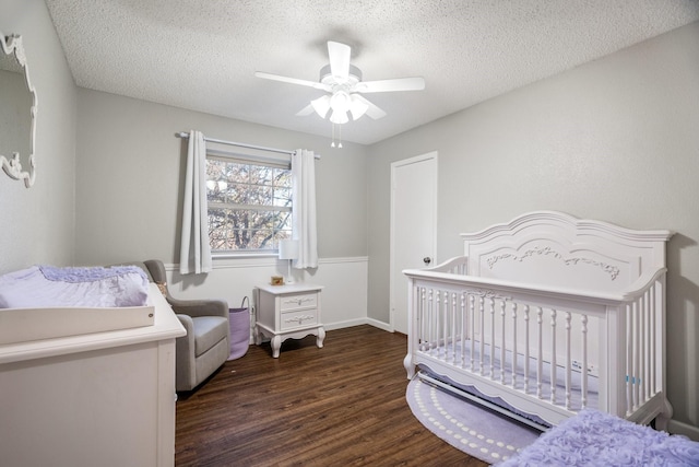
M 70 265 L 75 85 L 43 0 L 0 1 L 0 32 L 22 36 L 38 104 L 34 186 L 27 189 L 0 171 L 0 273 L 37 262 Z

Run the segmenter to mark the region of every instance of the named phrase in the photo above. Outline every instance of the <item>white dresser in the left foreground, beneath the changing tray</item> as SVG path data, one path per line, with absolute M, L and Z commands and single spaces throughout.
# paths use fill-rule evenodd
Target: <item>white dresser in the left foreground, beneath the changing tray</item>
M 0 346 L 0 464 L 171 467 L 175 339 L 155 284 L 152 326 Z

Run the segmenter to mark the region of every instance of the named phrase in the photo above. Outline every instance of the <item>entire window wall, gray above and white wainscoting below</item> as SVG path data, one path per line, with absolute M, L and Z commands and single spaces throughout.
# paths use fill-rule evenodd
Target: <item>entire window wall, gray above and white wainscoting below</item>
M 258 283 L 285 273 L 276 257 L 214 259 L 209 275 L 180 276 L 179 230 L 187 140 L 216 139 L 281 149 L 311 149 L 316 163 L 318 269 L 329 328 L 366 323 L 366 148 L 213 115 L 81 89 L 78 94 L 76 264 L 161 259 L 181 299 L 220 297 L 239 306 Z M 297 272 L 298 273 L 298 272 Z

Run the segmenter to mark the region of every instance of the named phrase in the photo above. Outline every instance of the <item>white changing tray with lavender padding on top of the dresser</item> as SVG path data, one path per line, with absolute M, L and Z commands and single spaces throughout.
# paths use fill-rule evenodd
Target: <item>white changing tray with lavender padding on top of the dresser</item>
M 138 266 L 33 266 L 0 276 L 0 345 L 152 326 L 153 287 Z

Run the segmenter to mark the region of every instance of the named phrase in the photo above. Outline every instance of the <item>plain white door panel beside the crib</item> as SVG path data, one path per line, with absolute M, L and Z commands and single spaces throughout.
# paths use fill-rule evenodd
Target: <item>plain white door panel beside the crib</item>
M 391 327 L 407 334 L 404 269 L 434 265 L 437 254 L 437 153 L 391 164 Z

